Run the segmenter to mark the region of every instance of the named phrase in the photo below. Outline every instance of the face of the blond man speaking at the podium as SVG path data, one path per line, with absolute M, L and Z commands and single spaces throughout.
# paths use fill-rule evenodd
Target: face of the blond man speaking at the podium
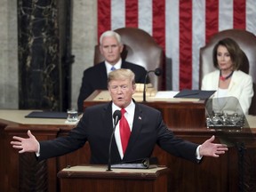
M 130 79 L 112 80 L 108 83 L 108 92 L 112 101 L 119 108 L 126 108 L 132 101 L 132 94 L 135 92 L 136 86 L 132 85 Z

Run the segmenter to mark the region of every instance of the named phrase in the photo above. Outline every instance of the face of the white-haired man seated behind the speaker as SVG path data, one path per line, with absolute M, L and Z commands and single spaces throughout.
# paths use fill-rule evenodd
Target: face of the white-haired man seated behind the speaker
M 100 52 L 110 64 L 115 65 L 120 60 L 123 45 L 118 44 L 115 36 L 105 36 L 100 44 Z

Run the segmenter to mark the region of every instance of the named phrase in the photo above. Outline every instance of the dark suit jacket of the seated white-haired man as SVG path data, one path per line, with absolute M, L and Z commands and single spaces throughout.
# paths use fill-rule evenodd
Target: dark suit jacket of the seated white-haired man
M 130 68 L 135 74 L 135 83 L 144 84 L 147 71 L 145 68 L 135 65 L 133 63 L 122 61 L 121 68 Z M 83 111 L 84 100 L 92 94 L 95 90 L 107 90 L 108 89 L 108 76 L 105 62 L 101 62 L 91 68 L 84 70 L 84 76 L 82 79 L 82 85 L 80 88 L 77 108 L 78 111 Z

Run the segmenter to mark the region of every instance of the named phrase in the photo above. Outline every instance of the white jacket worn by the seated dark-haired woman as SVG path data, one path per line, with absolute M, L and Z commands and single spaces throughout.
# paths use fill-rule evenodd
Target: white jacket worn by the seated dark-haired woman
M 219 95 L 219 81 L 220 70 L 215 70 L 204 76 L 201 89 L 216 90 L 213 98 L 217 98 Z M 234 71 L 231 76 L 226 97 L 232 96 L 239 100 L 244 114 L 248 114 L 253 96 L 252 76 L 249 76 L 240 70 Z

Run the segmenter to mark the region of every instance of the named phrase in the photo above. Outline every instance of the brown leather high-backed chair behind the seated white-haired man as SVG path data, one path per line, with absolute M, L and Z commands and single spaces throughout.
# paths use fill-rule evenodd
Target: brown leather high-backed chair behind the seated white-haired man
M 124 44 L 122 58 L 147 70 L 163 69 L 164 52 L 163 49 L 156 44 L 156 41 L 146 31 L 140 28 L 117 28 L 116 33 L 121 36 Z M 100 54 L 100 46 L 95 46 L 94 65 L 103 61 L 104 58 Z M 156 76 L 149 73 L 150 83 L 156 90 L 162 90 L 163 75 Z

